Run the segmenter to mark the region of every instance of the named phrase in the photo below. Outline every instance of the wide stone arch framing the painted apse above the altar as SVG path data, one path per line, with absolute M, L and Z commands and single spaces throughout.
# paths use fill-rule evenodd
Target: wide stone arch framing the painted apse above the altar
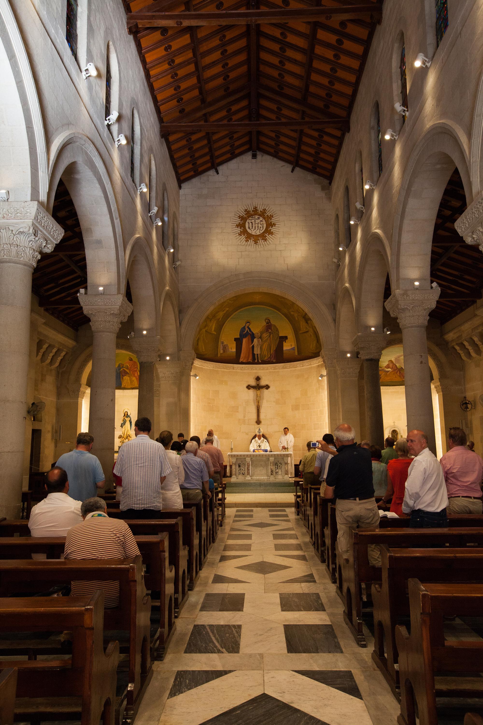
M 269 291 L 278 294 L 280 297 L 291 299 L 306 312 L 319 334 L 322 341 L 322 349 L 335 347 L 335 326 L 329 310 L 320 300 L 308 289 L 302 289 L 295 282 L 287 281 L 281 275 L 276 274 L 253 274 L 249 277 L 245 274 L 238 274 L 227 278 L 222 283 L 215 283 L 198 297 L 182 320 L 181 344 L 186 351 L 193 350 L 196 334 L 201 322 L 211 310 L 235 294 L 250 291 Z

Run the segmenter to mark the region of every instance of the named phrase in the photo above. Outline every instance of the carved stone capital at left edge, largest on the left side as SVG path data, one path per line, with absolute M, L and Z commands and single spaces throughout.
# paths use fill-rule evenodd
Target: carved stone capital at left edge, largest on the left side
M 38 202 L 0 202 L 0 262 L 35 268 L 64 236 L 62 227 Z

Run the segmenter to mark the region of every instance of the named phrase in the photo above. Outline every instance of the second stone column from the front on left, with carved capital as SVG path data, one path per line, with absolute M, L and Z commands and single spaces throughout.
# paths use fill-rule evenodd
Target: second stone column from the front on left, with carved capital
M 91 320 L 92 371 L 89 433 L 93 454 L 101 461 L 106 489 L 112 483 L 116 410 L 116 336 L 133 306 L 122 294 L 81 294 L 80 304 Z

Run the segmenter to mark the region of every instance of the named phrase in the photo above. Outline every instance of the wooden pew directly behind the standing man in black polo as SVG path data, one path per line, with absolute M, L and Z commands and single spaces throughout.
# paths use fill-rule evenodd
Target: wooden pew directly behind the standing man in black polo
M 406 519 L 406 521 L 409 521 Z M 337 559 L 337 593 L 344 602 L 344 620 L 360 647 L 366 647 L 362 622 L 361 585 L 371 592 L 371 585 L 381 581 L 381 568 L 371 566 L 369 544 L 394 547 L 465 547 L 466 543 L 483 546 L 483 528 L 467 529 L 358 529 L 353 531 L 348 557 Z

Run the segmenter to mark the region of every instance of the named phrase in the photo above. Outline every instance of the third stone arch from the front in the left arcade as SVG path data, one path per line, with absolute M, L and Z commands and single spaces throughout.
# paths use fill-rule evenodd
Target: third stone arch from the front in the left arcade
M 159 294 L 156 269 L 148 244 L 134 237 L 126 250 L 126 278 L 133 296 L 135 336 L 143 330 L 149 337 L 159 335 Z

